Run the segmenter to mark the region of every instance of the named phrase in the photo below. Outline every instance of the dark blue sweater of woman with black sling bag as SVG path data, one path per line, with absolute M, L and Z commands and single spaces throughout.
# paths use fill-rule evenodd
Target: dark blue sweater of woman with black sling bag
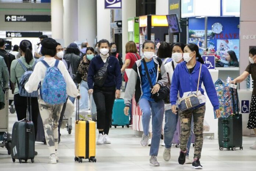
M 96 56 L 92 58 L 90 61 L 89 71 L 88 71 L 88 87 L 89 89 L 93 89 L 93 80 L 94 75 L 97 71 L 103 67 L 104 62 L 100 56 Z M 110 56 L 109 57 L 109 65 L 107 67 L 107 78 L 103 85 L 103 87 L 111 87 L 115 86 L 116 89 L 120 90 L 122 84 L 122 76 L 121 76 L 121 68 L 117 58 Z

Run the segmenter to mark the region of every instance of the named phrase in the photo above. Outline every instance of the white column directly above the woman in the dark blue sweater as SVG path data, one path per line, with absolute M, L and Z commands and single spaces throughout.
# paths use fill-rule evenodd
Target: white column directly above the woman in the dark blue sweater
M 104 0 L 97 0 L 97 41 L 110 41 L 110 10 L 104 8 Z

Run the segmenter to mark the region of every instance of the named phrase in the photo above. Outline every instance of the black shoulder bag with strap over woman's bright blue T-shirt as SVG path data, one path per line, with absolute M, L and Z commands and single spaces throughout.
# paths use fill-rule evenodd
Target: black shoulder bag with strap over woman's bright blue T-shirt
M 147 74 L 147 79 L 149 80 L 149 84 L 151 89 L 153 89 L 153 85 L 149 76 L 149 71 L 147 70 L 147 64 L 145 59 L 142 60 L 145 70 L 146 70 L 146 74 Z M 159 91 L 155 94 L 152 94 L 151 97 L 154 99 L 154 101 L 160 101 L 160 100 L 165 100 L 167 98 L 167 96 L 170 94 L 170 90 L 166 87 L 166 86 L 161 86 Z

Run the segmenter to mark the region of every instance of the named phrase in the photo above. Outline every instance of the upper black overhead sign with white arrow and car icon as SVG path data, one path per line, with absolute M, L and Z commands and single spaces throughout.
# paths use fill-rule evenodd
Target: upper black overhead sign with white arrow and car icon
M 50 15 L 4 15 L 5 22 L 51 22 Z

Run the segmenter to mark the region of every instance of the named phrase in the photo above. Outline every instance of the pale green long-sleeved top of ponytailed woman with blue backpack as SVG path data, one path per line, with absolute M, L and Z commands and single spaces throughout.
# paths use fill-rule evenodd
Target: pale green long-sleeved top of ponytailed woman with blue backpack
M 33 65 L 35 64 L 35 58 L 33 58 L 29 64 L 26 63 L 25 57 L 21 56 L 19 59 L 21 59 L 22 63 L 25 65 L 26 68 L 32 68 Z M 22 74 L 24 74 L 24 69 L 22 68 L 21 64 L 19 64 L 18 60 L 15 59 L 11 63 L 11 82 L 15 83 L 15 90 L 14 90 L 14 95 L 19 93 L 19 88 L 18 88 L 18 82 L 21 79 Z

